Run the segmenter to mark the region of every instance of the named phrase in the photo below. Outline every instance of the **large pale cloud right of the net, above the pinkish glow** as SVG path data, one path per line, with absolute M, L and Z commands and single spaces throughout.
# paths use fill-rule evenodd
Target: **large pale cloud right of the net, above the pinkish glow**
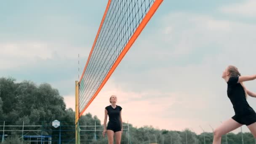
M 141 35 L 114 72 L 123 87 L 182 90 L 202 80 L 193 85 L 200 88 L 207 76 L 215 86 L 229 64 L 253 72 L 255 25 L 190 13 L 170 13 L 161 22 L 152 35 Z

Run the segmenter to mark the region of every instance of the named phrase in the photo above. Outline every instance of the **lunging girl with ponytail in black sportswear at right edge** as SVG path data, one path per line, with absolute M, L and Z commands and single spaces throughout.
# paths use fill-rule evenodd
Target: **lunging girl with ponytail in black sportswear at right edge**
M 222 123 L 214 131 L 213 144 L 221 144 L 221 136 L 246 125 L 254 138 L 256 138 L 256 112 L 247 102 L 247 95 L 256 97 L 253 93 L 245 88 L 243 82 L 255 80 L 256 75 L 241 76 L 237 67 L 228 66 L 222 73 L 222 78 L 227 82 L 227 96 L 229 97 L 235 115 L 229 120 Z

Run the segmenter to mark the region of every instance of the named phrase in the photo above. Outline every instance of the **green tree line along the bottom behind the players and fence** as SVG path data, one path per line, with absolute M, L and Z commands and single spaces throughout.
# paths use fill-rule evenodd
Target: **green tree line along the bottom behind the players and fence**
M 0 78 L 0 123 L 5 121 L 6 124 L 11 125 L 23 123 L 24 125 L 43 125 L 43 128 L 37 128 L 43 131 L 41 134 L 52 135 L 52 139 L 58 139 L 59 132 L 51 126 L 53 120 L 59 120 L 61 125 L 65 125 L 61 129 L 62 143 L 65 143 L 64 139 L 75 140 L 75 112 L 71 108 L 67 109 L 64 98 L 56 88 L 48 83 L 36 85 L 27 80 L 18 83 L 12 77 Z M 79 123 L 80 125 L 101 125 L 99 118 L 90 113 L 80 117 Z M 130 144 L 212 144 L 213 141 L 213 133 L 205 132 L 197 135 L 189 129 L 168 131 L 152 126 L 137 128 L 130 123 L 128 125 L 129 133 L 127 130 L 123 131 L 121 144 L 128 144 L 128 142 Z M 83 143 L 107 144 L 107 136 L 103 137 L 102 131 L 93 131 L 94 127 L 86 129 L 91 131 L 80 131 L 80 139 Z M 0 127 L 0 130 L 3 130 L 3 126 Z M 101 129 L 99 128 L 99 130 Z M 0 132 L 0 136 L 2 134 Z M 4 134 L 20 136 L 20 133 L 16 131 L 8 131 Z M 227 136 L 222 136 L 221 144 L 227 144 L 226 142 L 242 144 L 242 134 L 244 144 L 256 144 L 251 133 L 228 133 Z M 17 141 L 21 141 L 21 139 L 20 137 L 17 139 L 12 141 L 18 144 Z

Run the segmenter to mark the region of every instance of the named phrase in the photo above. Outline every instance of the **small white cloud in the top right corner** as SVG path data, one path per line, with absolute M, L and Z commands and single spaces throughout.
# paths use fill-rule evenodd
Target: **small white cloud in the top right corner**
M 256 1 L 243 0 L 239 3 L 223 6 L 220 11 L 228 14 L 236 14 L 245 17 L 256 17 Z

